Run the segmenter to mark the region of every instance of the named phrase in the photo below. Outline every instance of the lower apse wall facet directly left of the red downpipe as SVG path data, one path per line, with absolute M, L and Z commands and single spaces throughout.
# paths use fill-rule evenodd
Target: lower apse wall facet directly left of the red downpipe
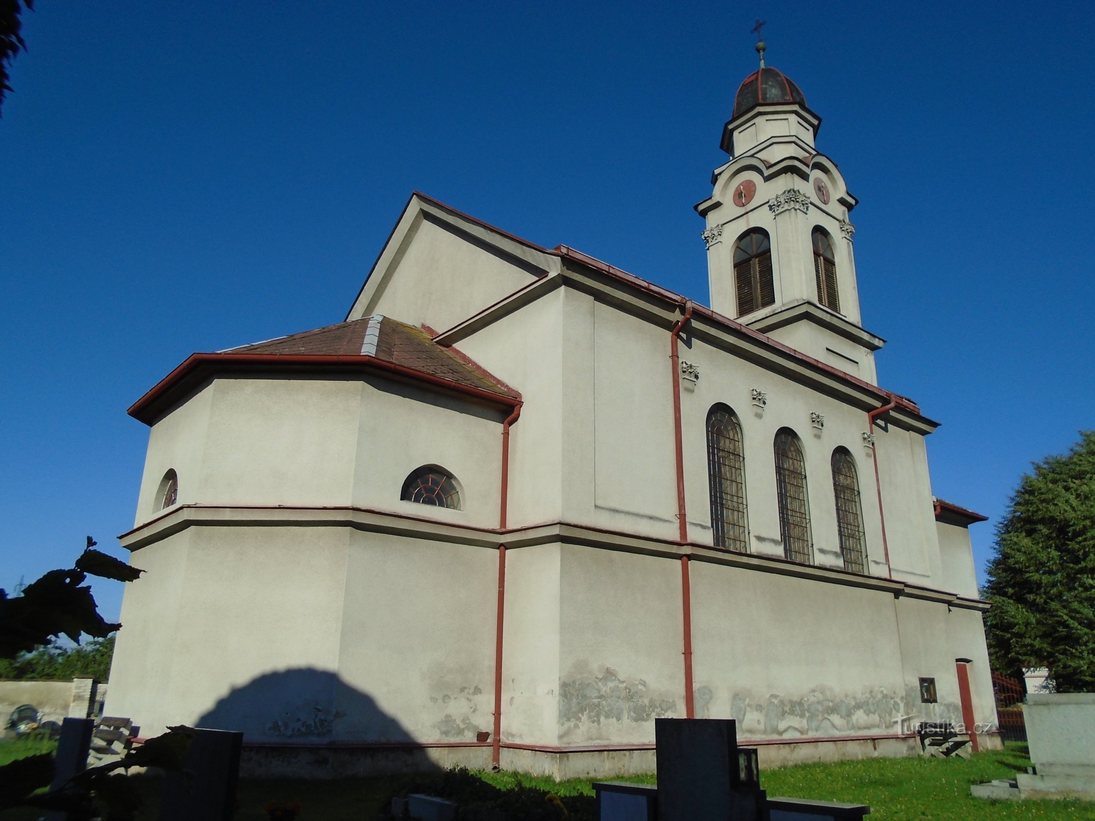
M 355 532 L 342 603 L 342 741 L 492 729 L 497 551 Z

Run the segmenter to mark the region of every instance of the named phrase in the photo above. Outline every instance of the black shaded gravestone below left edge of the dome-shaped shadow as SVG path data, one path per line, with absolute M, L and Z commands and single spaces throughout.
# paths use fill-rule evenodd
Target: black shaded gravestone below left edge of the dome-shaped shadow
M 231 821 L 240 773 L 242 732 L 189 730 L 194 740 L 183 759 L 184 773 L 165 773 L 161 821 Z

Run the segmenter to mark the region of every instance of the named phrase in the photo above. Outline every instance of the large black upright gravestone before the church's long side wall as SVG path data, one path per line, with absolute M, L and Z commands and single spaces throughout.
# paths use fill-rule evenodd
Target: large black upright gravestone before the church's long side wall
M 752 778 L 756 756 L 739 751 L 734 719 L 658 718 L 654 733 L 659 821 L 762 818 L 764 791 Z

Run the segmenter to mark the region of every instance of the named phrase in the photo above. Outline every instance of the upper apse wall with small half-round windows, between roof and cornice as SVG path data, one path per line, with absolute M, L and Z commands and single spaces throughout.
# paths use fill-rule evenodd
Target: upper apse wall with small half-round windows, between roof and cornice
M 496 527 L 504 416 L 379 377 L 220 378 L 152 427 L 137 523 L 163 512 L 172 469 L 180 505 L 355 505 Z M 400 500 L 425 464 L 457 478 L 460 510 Z

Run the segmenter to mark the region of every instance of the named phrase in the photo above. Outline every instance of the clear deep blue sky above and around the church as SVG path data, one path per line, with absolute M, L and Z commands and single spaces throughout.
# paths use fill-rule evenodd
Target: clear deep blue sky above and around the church
M 935 493 L 995 520 L 1095 427 L 1095 4 L 37 5 L 0 119 L 5 589 L 89 533 L 123 555 L 126 407 L 341 321 L 415 188 L 706 302 L 692 205 L 758 15 L 860 198 L 880 382 L 944 423 Z

